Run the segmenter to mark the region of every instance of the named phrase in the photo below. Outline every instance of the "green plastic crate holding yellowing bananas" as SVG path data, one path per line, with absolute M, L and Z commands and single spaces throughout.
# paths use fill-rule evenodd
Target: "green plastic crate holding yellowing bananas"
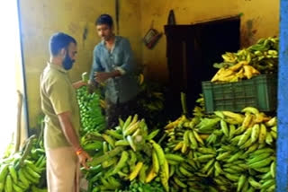
M 236 83 L 202 82 L 206 113 L 216 110 L 239 112 L 251 106 L 260 111 L 275 111 L 277 78 L 275 74 L 260 74 Z

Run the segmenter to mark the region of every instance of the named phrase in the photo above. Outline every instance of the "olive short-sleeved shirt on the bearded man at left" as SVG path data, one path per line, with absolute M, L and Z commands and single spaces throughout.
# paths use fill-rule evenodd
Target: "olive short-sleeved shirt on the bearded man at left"
M 70 111 L 71 123 L 79 136 L 80 114 L 76 90 L 60 65 L 48 64 L 40 76 L 41 109 L 45 114 L 44 144 L 46 149 L 70 146 L 62 131 L 58 114 Z

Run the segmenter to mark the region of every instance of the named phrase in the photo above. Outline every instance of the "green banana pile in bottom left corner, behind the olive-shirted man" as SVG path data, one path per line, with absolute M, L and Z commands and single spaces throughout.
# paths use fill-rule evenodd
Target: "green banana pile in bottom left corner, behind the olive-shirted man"
M 46 157 L 39 147 L 35 135 L 25 144 L 22 152 L 14 153 L 0 162 L 0 191 L 45 192 Z

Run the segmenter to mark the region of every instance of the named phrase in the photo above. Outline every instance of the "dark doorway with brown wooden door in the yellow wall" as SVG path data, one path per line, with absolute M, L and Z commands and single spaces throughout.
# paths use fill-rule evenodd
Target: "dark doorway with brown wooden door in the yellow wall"
M 239 49 L 239 17 L 201 22 L 193 25 L 166 25 L 166 57 L 169 71 L 168 104 L 171 117 L 181 114 L 180 92 L 187 96 L 189 113 L 202 93 L 202 81 L 217 72 L 214 63 L 225 52 Z

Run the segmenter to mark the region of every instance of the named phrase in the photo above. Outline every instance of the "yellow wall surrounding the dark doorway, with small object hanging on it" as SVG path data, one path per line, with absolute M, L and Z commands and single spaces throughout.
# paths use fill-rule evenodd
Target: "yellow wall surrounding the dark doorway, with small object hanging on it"
M 153 27 L 157 31 L 164 32 L 171 9 L 174 10 L 177 24 L 190 24 L 243 13 L 241 45 L 244 47 L 255 43 L 261 37 L 278 34 L 279 0 L 273 4 L 271 0 L 141 0 L 140 8 L 142 37 L 151 23 L 154 23 Z M 145 48 L 143 44 L 142 50 L 143 65 L 147 66 L 146 74 L 154 80 L 166 82 L 166 36 L 162 36 L 153 50 Z

